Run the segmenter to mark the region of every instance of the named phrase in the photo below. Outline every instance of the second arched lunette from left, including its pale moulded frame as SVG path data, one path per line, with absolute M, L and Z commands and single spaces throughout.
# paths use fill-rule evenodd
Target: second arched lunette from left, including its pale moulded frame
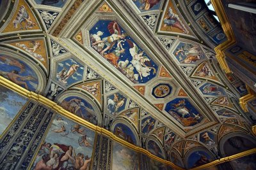
M 95 125 L 102 125 L 102 116 L 97 104 L 83 92 L 68 90 L 56 98 L 65 110 Z

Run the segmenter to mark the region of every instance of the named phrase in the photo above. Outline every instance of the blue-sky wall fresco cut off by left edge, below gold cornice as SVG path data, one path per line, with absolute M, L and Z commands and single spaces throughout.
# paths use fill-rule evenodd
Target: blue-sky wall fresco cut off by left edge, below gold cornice
M 28 98 L 0 85 L 0 136 L 27 101 Z

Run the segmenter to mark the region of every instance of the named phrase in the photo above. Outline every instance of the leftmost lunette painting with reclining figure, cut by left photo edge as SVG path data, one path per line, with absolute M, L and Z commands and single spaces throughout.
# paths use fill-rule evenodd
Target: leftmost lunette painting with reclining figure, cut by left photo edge
M 27 90 L 35 91 L 38 76 L 28 64 L 9 55 L 0 54 L 0 75 Z

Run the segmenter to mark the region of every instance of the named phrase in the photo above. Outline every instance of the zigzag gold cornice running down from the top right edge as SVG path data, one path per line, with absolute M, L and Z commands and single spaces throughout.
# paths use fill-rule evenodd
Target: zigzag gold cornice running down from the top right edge
M 225 73 L 230 73 L 231 71 L 225 60 L 225 50 L 227 50 L 228 47 L 236 43 L 236 37 L 234 35 L 234 32 L 232 31 L 232 27 L 230 25 L 230 22 L 228 21 L 228 17 L 225 13 L 225 9 L 223 8 L 223 4 L 221 3 L 221 1 L 211 0 L 211 3 L 214 7 L 214 10 L 216 11 L 218 18 L 220 19 L 221 27 L 227 36 L 227 41 L 221 43 L 214 48 L 216 52 L 216 58 L 218 59 L 218 62 L 220 63 L 220 66 L 225 71 Z

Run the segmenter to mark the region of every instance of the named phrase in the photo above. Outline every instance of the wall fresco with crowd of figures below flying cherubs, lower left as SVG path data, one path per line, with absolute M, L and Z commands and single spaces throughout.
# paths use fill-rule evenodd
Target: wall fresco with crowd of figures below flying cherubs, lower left
M 56 115 L 31 169 L 89 169 L 94 139 L 92 130 Z

